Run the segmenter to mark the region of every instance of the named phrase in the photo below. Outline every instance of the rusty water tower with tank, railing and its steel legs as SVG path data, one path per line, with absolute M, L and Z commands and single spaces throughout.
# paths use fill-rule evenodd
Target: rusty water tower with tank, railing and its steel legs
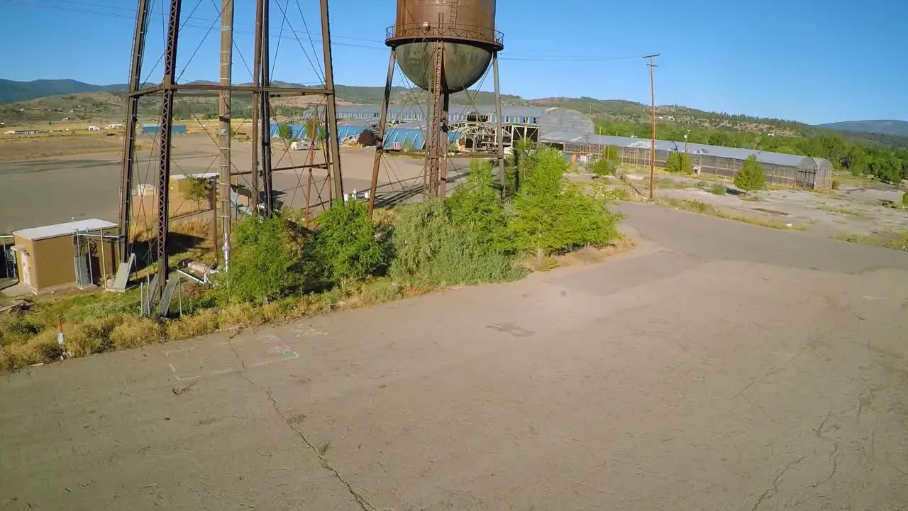
M 427 194 L 439 196 L 446 193 L 449 96 L 476 84 L 489 69 L 489 64 L 492 65 L 498 122 L 498 150 L 494 155 L 498 157 L 503 185 L 498 52 L 504 48 L 504 43 L 502 34 L 495 30 L 495 0 L 398 0 L 396 22 L 385 36 L 391 55 L 372 172 L 370 212 L 384 151 L 395 64 L 414 85 L 429 92 L 424 145 Z

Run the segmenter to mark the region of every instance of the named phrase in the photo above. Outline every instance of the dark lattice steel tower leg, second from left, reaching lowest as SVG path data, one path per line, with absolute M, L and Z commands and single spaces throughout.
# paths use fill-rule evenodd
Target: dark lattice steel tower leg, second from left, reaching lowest
M 170 15 L 167 21 L 167 40 L 164 45 L 163 83 L 173 84 L 176 81 L 176 50 L 180 37 L 180 11 L 183 0 L 171 0 Z M 175 91 L 164 91 L 161 107 L 161 149 L 158 158 L 158 237 L 157 237 L 157 296 L 163 296 L 167 286 L 167 255 L 169 248 L 170 215 L 170 169 L 171 169 L 171 129 L 173 129 L 173 95 Z

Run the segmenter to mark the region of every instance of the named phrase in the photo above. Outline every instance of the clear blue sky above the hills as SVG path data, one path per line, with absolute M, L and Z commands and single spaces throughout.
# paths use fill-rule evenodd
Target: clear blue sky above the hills
M 146 72 L 163 48 L 163 0 L 153 1 L 159 14 L 153 16 Z M 236 2 L 234 80 L 244 82 L 249 72 L 242 59 L 252 60 L 253 0 Z M 303 19 L 316 37 L 321 32 L 318 2 L 299 0 L 298 9 L 297 0 L 289 0 L 281 32 L 285 2 L 271 0 L 275 77 L 315 83 L 301 45 L 311 54 Z M 192 13 L 182 35 L 183 81 L 217 79 L 217 25 L 208 31 L 218 15 L 215 3 L 221 2 L 183 0 L 184 17 Z M 134 9 L 134 0 L 0 0 L 0 77 L 124 83 Z M 338 84 L 383 83 L 388 50 L 382 41 L 394 12 L 393 0 L 331 0 Z M 649 77 L 639 56 L 660 53 L 660 105 L 808 123 L 908 120 L 906 19 L 904 0 L 498 0 L 506 44 L 501 88 L 528 98 L 587 95 L 648 103 Z M 153 79 L 160 73 L 159 64 Z M 482 88 L 490 85 L 489 78 Z

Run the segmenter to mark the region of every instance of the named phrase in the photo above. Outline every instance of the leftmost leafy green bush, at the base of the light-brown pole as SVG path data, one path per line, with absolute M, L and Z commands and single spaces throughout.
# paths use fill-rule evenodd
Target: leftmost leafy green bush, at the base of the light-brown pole
M 245 216 L 236 225 L 227 288 L 232 302 L 259 303 L 281 296 L 294 284 L 289 236 L 277 215 Z

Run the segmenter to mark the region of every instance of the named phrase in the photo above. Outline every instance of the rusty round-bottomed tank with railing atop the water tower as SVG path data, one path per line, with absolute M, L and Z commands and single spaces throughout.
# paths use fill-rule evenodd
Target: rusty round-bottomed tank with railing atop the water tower
M 442 89 L 456 93 L 479 81 L 492 54 L 504 48 L 495 30 L 495 0 L 398 0 L 397 21 L 386 34 L 398 65 L 414 85 L 429 90 L 433 50 L 445 45 Z

